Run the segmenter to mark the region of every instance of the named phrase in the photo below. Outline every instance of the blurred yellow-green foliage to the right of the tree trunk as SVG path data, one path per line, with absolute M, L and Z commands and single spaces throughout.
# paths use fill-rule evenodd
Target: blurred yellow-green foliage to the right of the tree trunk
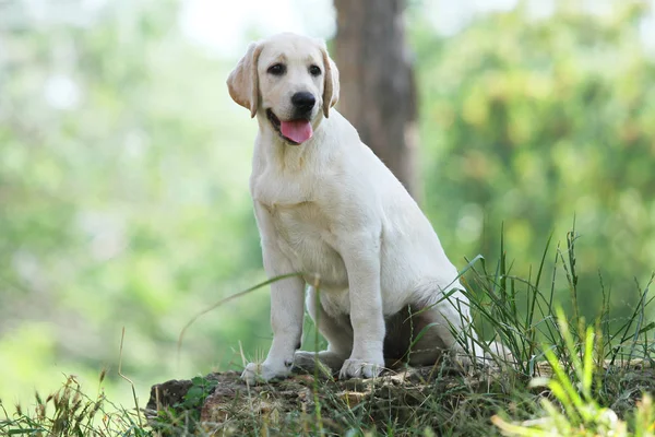
M 454 260 L 498 253 L 503 224 L 505 247 L 537 259 L 575 216 L 580 310 L 600 309 L 600 272 L 621 323 L 640 298 L 633 277 L 655 267 L 655 59 L 640 34 L 648 8 L 612 1 L 595 15 L 556 1 L 539 17 L 525 3 L 450 37 L 415 16 L 424 204 Z M 513 273 L 528 275 L 521 268 Z M 555 300 L 572 311 L 567 294 Z

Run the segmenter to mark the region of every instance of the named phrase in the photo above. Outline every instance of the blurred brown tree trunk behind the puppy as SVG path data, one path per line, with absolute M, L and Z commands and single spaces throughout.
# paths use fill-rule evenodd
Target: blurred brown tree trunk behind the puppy
M 405 0 L 334 0 L 338 110 L 416 196 L 416 92 Z

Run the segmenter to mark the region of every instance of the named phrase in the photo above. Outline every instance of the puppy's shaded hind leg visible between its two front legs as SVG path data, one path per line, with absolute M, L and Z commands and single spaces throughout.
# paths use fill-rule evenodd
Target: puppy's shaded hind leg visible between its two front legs
M 348 316 L 334 318 L 330 316 L 320 303 L 317 303 L 317 292 L 313 287 L 307 294 L 307 309 L 314 324 L 318 320 L 319 332 L 327 340 L 327 350 L 318 353 L 322 364 L 332 373 L 338 371 L 353 350 L 353 328 Z M 297 351 L 294 356 L 294 367 L 305 371 L 314 368 L 315 353 Z

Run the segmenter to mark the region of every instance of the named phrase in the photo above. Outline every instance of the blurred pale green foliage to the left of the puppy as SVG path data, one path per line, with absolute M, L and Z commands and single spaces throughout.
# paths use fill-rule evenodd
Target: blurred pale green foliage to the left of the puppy
M 0 397 L 116 369 L 122 327 L 141 389 L 266 347 L 264 293 L 203 319 L 175 359 L 192 315 L 264 277 L 231 62 L 184 39 L 177 2 L 71 4 L 84 25 L 0 9 Z

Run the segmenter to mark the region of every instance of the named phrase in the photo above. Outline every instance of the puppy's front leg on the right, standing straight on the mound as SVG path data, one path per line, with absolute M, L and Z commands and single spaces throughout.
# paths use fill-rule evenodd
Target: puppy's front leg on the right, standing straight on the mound
M 380 240 L 377 235 L 349 235 L 340 245 L 348 274 L 353 352 L 340 377 L 372 378 L 384 366 L 384 316 L 380 290 Z

